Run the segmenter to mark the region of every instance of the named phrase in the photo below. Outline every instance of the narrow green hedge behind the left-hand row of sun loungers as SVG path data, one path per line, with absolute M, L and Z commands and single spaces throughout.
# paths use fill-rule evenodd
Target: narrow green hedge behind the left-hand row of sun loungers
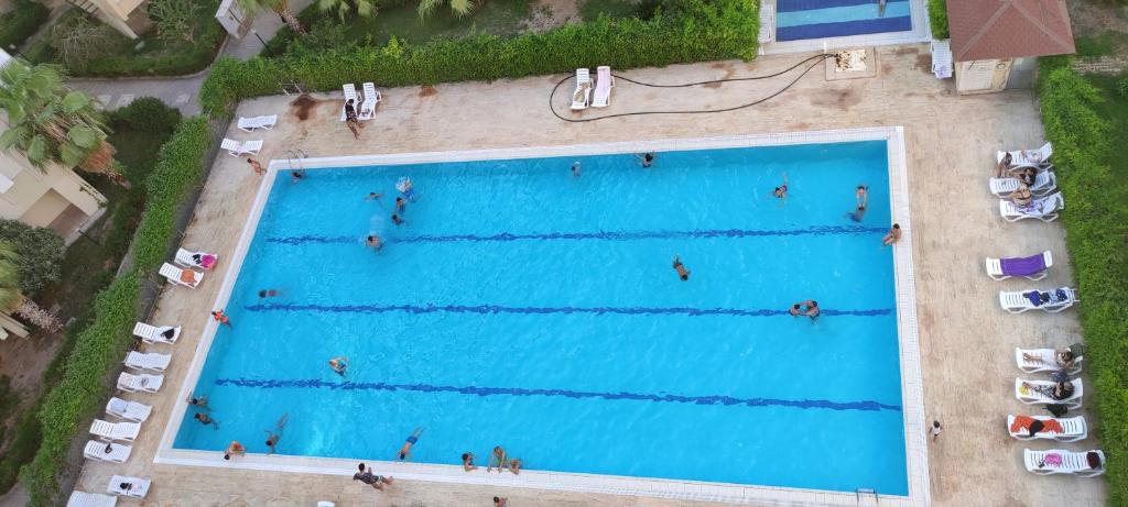
M 83 429 L 79 425 L 100 409 L 106 375 L 117 367 L 132 341 L 141 276 L 168 255 L 176 232 L 176 210 L 199 185 L 211 142 L 208 121 L 195 116 L 160 149 L 157 167 L 147 180 L 146 212 L 133 235 L 134 268 L 95 299 L 94 319 L 78 335 L 62 379 L 46 394 L 38 412 L 42 444 L 32 463 L 20 471 L 32 506 L 52 505 L 71 439 Z

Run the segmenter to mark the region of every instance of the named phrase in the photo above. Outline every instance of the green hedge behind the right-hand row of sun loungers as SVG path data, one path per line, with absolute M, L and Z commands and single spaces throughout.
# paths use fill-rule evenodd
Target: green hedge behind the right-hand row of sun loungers
M 1061 221 L 1083 300 L 1078 317 L 1109 460 L 1109 505 L 1128 505 L 1128 175 L 1110 166 L 1122 157 L 1110 137 L 1128 136 L 1110 118 L 1128 104 L 1107 104 L 1099 89 L 1064 64 L 1068 60 L 1043 60 L 1038 95 L 1068 204 Z M 1123 160 L 1116 163 L 1123 172 Z

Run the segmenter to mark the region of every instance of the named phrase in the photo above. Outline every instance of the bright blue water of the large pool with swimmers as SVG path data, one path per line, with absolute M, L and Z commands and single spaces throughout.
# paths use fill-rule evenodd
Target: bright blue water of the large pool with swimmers
M 190 410 L 175 447 L 265 452 L 287 412 L 280 454 L 394 460 L 423 427 L 413 461 L 907 495 L 887 166 L 881 141 L 283 171 L 196 385 L 219 429 Z

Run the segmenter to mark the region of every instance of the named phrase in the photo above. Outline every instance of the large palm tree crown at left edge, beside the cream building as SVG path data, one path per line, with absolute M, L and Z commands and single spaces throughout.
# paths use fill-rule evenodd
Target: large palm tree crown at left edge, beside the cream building
M 59 66 L 9 61 L 0 69 L 0 109 L 8 113 L 3 150 L 16 148 L 39 170 L 55 162 L 125 185 L 94 98 L 68 88 Z

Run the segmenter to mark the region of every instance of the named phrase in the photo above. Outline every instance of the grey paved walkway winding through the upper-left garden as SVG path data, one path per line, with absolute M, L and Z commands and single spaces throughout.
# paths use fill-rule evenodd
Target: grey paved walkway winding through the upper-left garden
M 300 12 L 312 2 L 314 0 L 291 0 L 290 7 L 294 12 Z M 265 47 L 263 41 L 270 41 L 283 26 L 284 24 L 277 15 L 263 10 L 252 25 L 254 33 L 247 33 L 247 36 L 241 39 L 228 37 L 220 54 L 249 60 L 263 51 Z M 255 34 L 258 36 L 256 37 Z M 165 104 L 180 109 L 184 115 L 191 116 L 201 112 L 200 87 L 203 84 L 204 78 L 208 77 L 208 72 L 209 70 L 204 69 L 193 75 L 153 79 L 76 78 L 71 79 L 69 84 L 71 88 L 97 97 L 107 109 L 127 106 L 139 97 L 156 97 Z

